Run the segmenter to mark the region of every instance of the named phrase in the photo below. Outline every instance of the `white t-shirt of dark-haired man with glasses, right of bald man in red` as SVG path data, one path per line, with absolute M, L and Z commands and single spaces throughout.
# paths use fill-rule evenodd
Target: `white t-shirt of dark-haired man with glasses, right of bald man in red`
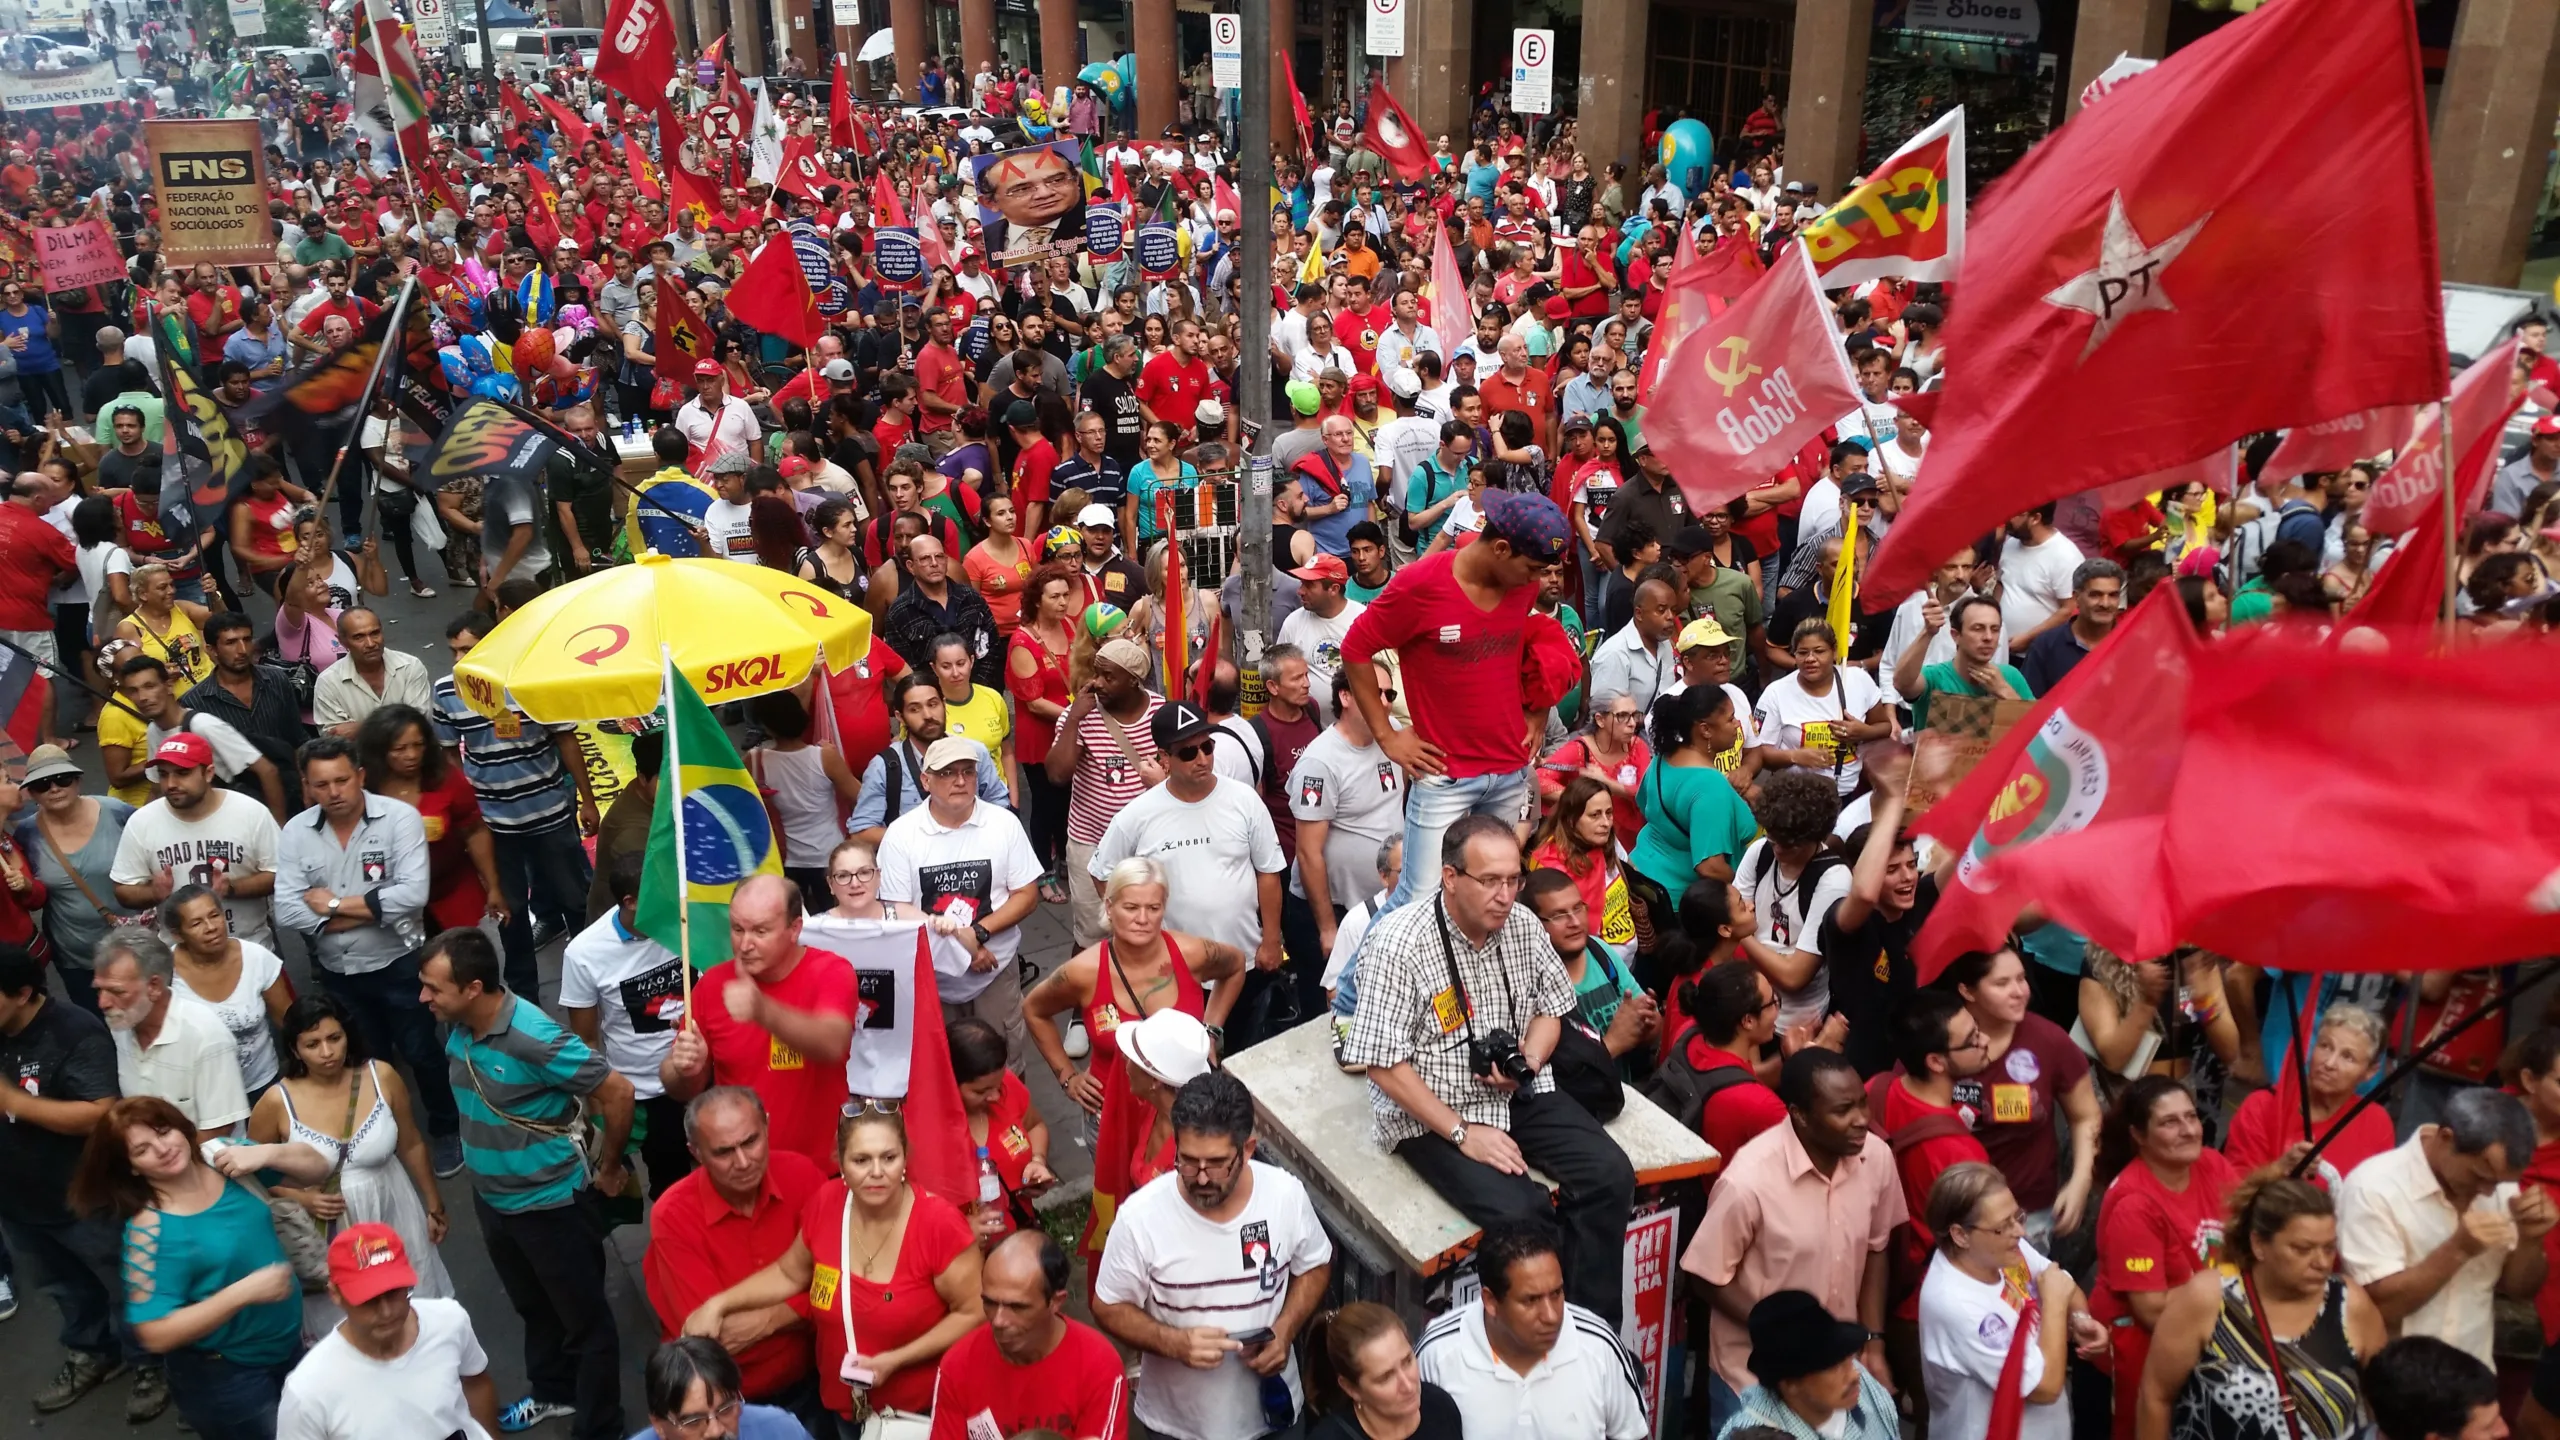
M 1295 1176 L 1262 1161 L 1249 1166 L 1254 1189 L 1226 1222 L 1193 1209 L 1178 1176 L 1157 1176 L 1121 1202 L 1093 1271 L 1093 1297 L 1134 1304 L 1160 1325 L 1229 1335 L 1270 1327 L 1288 1302 L 1288 1281 L 1331 1263 L 1334 1243 Z M 1303 1404 L 1295 1353 L 1280 1376 Z M 1175 1440 L 1252 1440 L 1267 1432 L 1260 1386 L 1236 1355 L 1213 1371 L 1147 1355 L 1137 1373 L 1137 1417 Z

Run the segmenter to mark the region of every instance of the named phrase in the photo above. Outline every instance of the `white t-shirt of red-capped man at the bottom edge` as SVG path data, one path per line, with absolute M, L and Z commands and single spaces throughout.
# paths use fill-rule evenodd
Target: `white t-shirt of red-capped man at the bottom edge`
M 489 1440 L 471 1420 L 463 1379 L 489 1373 L 489 1355 L 458 1299 L 410 1299 L 417 1340 L 397 1361 L 376 1361 L 330 1330 L 276 1404 L 276 1440 Z

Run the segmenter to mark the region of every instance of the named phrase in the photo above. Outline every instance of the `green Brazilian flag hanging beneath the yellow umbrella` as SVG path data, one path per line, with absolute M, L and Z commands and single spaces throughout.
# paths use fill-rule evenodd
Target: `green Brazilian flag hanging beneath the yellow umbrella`
M 783 874 L 773 817 L 737 746 L 668 664 L 666 769 L 640 871 L 640 933 L 707 971 L 730 958 L 730 897 L 758 874 Z

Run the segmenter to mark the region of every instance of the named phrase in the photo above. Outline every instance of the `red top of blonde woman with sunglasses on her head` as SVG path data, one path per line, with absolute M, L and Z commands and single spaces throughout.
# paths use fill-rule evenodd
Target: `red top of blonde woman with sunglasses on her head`
M 837 1074 L 842 1076 L 842 1068 Z M 906 1235 L 899 1240 L 899 1268 L 888 1273 L 888 1284 L 865 1279 L 845 1284 L 845 1181 L 822 1181 L 801 1209 L 801 1240 L 809 1243 L 814 1261 L 809 1330 L 817 1332 L 817 1396 L 827 1409 L 852 1414 L 852 1391 L 845 1386 L 845 1312 L 837 1304 L 852 1309 L 852 1343 L 863 1355 L 906 1345 L 950 1314 L 934 1276 L 978 1238 L 952 1202 L 916 1191 Z M 934 1366 L 901 1366 L 886 1384 L 870 1386 L 870 1404 L 924 1414 L 934 1407 Z

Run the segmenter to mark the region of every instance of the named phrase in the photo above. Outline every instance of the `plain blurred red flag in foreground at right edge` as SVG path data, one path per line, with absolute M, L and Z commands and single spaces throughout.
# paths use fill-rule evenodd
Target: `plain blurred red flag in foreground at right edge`
M 2214 646 L 2161 876 L 2179 938 L 2289 971 L 2552 953 L 2560 748 L 2481 743 L 2547 728 L 2552 694 L 2552 646 L 2365 651 L 2286 628 Z

